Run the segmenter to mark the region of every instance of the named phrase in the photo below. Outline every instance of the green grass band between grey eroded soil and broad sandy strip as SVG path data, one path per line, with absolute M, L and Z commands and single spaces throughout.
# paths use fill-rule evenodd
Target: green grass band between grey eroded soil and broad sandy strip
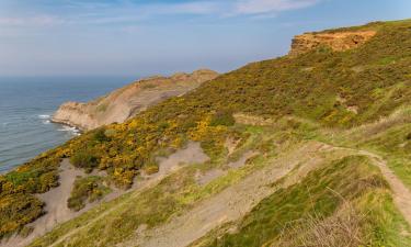
M 275 138 L 277 134 L 277 131 L 261 130 L 254 126 L 237 127 L 248 133 L 244 135 L 247 139 L 240 144 L 237 151 L 239 157 L 247 150 L 258 147 L 259 143 L 255 141 L 261 139 L 260 137 L 264 136 L 264 139 L 270 139 Z M 290 144 L 288 149 L 293 150 L 295 145 L 298 145 L 298 143 Z M 272 149 L 270 151 L 275 150 Z M 68 242 L 69 246 L 94 246 L 94 240 L 99 239 L 101 246 L 113 246 L 130 237 L 141 224 L 146 224 L 148 227 L 161 225 L 172 215 L 184 212 L 196 202 L 206 200 L 213 194 L 237 183 L 247 175 L 269 165 L 274 157 L 274 154 L 266 156 L 266 158 L 260 156 L 250 160 L 247 166 L 230 170 L 227 175 L 213 180 L 206 186 L 197 184 L 194 179 L 195 173 L 197 171 L 206 172 L 210 169 L 224 168 L 228 161 L 227 156 L 219 157 L 215 162 L 193 164 L 165 178 L 155 188 L 141 193 L 127 193 L 114 202 L 103 203 L 80 217 L 57 226 L 44 237 L 35 240 L 32 246 L 47 246 L 66 233 L 88 224 L 99 217 L 99 215 L 115 207 L 114 211 L 101 220 L 71 236 Z

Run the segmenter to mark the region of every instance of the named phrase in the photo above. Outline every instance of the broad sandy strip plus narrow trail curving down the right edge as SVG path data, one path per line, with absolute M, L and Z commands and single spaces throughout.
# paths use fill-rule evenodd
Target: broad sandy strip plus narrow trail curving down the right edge
M 327 144 L 323 144 L 318 150 L 346 150 L 369 157 L 381 170 L 383 176 L 392 189 L 392 197 L 397 207 L 411 225 L 411 193 L 401 180 L 387 167 L 386 161 L 381 157 L 366 150 L 334 147 Z M 299 171 L 296 175 L 287 178 L 288 181 L 284 182 L 285 186 L 297 182 L 316 167 L 316 162 L 320 162 L 319 159 L 313 158 L 317 154 L 310 155 L 310 159 L 308 160 L 301 159 L 305 156 L 305 151 L 298 150 L 297 154 L 294 155 L 300 159 L 300 162 L 304 162 L 304 166 L 298 169 Z M 227 188 L 212 199 L 199 203 L 190 212 L 172 218 L 165 225 L 148 231 L 147 233 L 136 233 L 133 239 L 119 246 L 183 247 L 194 243 L 224 223 L 243 217 L 261 200 L 275 191 L 274 188 L 267 188 L 267 184 L 286 176 L 296 166 L 296 164 L 293 164 L 290 157 L 287 157 L 286 160 L 288 161 L 287 167 L 267 167 L 256 171 L 238 184 Z

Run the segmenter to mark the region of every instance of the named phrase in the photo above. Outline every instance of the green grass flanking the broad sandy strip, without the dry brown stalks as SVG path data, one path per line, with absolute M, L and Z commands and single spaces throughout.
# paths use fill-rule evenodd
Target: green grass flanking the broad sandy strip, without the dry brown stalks
M 94 246 L 94 239 L 99 239 L 101 246 L 113 246 L 129 238 L 141 224 L 148 227 L 161 225 L 172 215 L 183 213 L 196 202 L 206 200 L 240 181 L 250 172 L 270 164 L 278 151 L 293 150 L 306 139 L 327 138 L 318 125 L 297 120 L 294 120 L 293 124 L 288 121 L 281 121 L 275 126 L 236 125 L 233 128 L 235 133 L 241 133 L 244 138 L 231 157 L 226 157 L 226 153 L 220 151 L 221 157 L 216 157 L 214 162 L 189 166 L 140 194 L 128 193 L 114 202 L 103 203 L 102 206 L 56 227 L 37 239 L 33 246 L 47 246 L 66 233 L 118 206 L 71 236 L 66 243 L 69 246 Z M 270 146 L 266 154 L 262 153 L 240 169 L 230 170 L 226 176 L 206 186 L 196 184 L 194 175 L 197 170 L 205 172 L 209 169 L 224 168 L 227 161 L 236 160 L 246 151 L 256 149 L 265 142 L 276 145 Z M 372 246 L 401 246 L 400 244 L 410 243 L 410 239 L 398 235 L 399 229 L 408 229 L 408 226 L 396 210 L 385 180 L 367 158 L 358 156 L 334 161 L 311 172 L 300 183 L 274 193 L 261 202 L 250 213 L 251 216 L 247 216 L 240 223 L 241 232 L 238 234 L 224 235 L 222 238 L 218 238 L 224 240 L 214 243 L 213 239 L 218 232 L 213 232 L 206 240 L 202 240 L 216 246 L 260 246 L 260 244 L 279 243 L 279 240 L 289 244 L 289 239 L 297 239 L 296 235 L 287 236 L 286 239 L 284 237 L 277 239 L 278 234 L 289 222 L 301 220 L 306 223 L 312 215 L 316 216 L 317 222 L 323 222 L 338 214 L 344 202 L 341 197 L 355 207 L 355 216 L 366 215 L 366 218 L 361 221 L 364 232 L 361 236 L 364 243 L 372 244 Z M 350 212 L 343 211 L 342 215 L 346 217 L 347 213 Z M 304 228 L 304 225 L 299 227 Z M 263 235 L 261 235 L 262 231 L 265 231 Z M 310 235 L 309 229 L 304 228 L 304 231 L 307 236 Z

